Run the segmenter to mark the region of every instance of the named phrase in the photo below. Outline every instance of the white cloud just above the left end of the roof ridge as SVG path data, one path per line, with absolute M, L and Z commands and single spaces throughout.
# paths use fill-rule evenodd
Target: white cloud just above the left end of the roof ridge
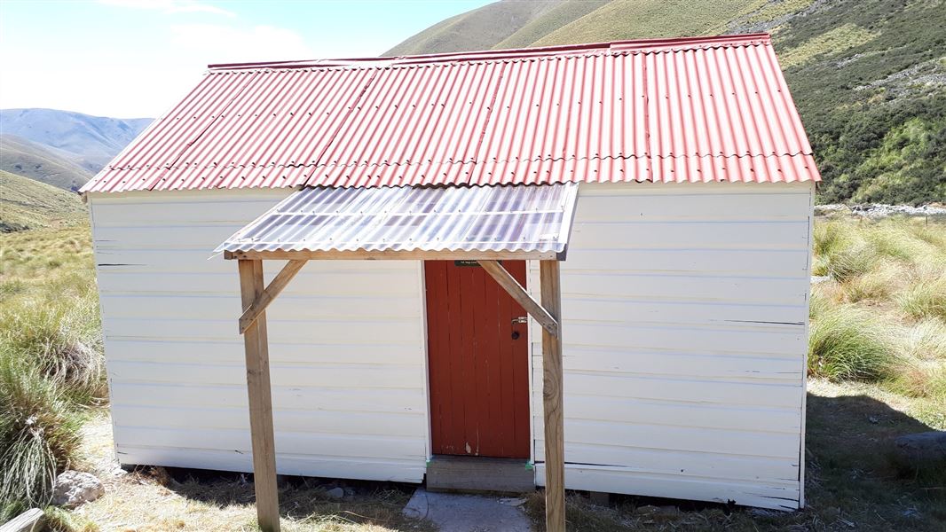
M 301 35 L 283 27 L 182 24 L 171 26 L 171 35 L 172 44 L 214 63 L 300 60 L 313 56 Z

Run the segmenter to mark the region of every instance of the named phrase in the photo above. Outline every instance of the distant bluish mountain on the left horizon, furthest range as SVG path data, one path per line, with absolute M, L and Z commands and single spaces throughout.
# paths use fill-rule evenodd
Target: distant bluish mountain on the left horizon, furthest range
M 0 110 L 0 132 L 58 152 L 96 174 L 152 120 L 109 118 L 52 109 L 5 109 Z

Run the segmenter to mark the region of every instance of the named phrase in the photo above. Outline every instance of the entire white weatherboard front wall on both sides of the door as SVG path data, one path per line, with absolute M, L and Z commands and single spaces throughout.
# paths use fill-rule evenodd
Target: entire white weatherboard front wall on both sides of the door
M 208 250 L 289 192 L 90 195 L 123 463 L 252 470 L 236 264 Z M 798 506 L 813 194 L 581 185 L 562 266 L 569 489 Z M 278 471 L 421 481 L 420 263 L 310 262 L 267 314 Z M 532 363 L 541 462 L 538 343 Z

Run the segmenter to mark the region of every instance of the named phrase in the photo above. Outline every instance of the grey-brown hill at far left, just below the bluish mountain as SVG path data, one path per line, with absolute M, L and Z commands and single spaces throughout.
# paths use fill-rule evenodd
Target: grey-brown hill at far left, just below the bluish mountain
M 93 176 L 44 146 L 8 134 L 0 135 L 0 170 L 64 190 L 79 190 Z

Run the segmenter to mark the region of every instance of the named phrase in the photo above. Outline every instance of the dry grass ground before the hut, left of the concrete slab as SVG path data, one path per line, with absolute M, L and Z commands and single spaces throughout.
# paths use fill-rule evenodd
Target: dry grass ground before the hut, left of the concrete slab
M 102 412 L 83 429 L 81 463 L 95 472 L 106 494 L 72 512 L 81 526 L 122 532 L 257 530 L 253 484 L 243 475 L 210 473 L 200 478 L 164 468 L 122 472 L 112 455 L 112 426 Z M 198 472 L 195 472 L 198 474 Z M 327 481 L 325 481 L 327 482 Z M 384 483 L 351 483 L 353 496 L 335 501 L 314 479 L 295 479 L 280 489 L 282 529 L 287 532 L 382 532 L 433 530 L 427 521 L 401 514 L 411 492 Z M 94 528 L 92 528 L 94 529 Z

